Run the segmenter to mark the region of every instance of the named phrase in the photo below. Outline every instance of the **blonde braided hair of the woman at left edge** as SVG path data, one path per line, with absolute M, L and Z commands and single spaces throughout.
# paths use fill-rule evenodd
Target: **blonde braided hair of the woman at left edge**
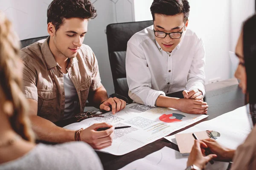
M 34 135 L 29 127 L 28 105 L 22 89 L 22 62 L 18 57 L 20 43 L 12 28 L 12 23 L 0 11 L 0 108 L 6 111 L 9 104 L 10 124 L 23 139 L 34 142 Z

